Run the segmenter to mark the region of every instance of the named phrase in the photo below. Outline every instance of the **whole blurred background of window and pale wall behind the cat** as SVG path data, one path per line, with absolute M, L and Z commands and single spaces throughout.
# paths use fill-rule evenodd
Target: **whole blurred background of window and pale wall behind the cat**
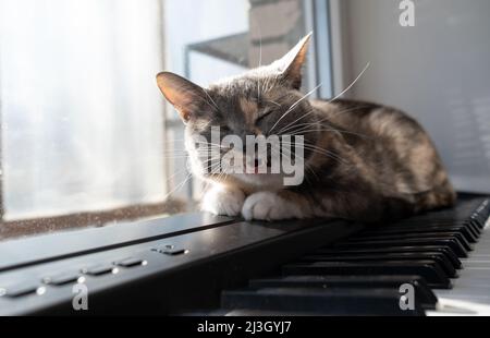
M 406 110 L 457 189 L 490 192 L 490 2 L 417 0 L 413 27 L 400 24 L 401 2 L 0 0 L 3 224 L 193 209 L 200 183 L 155 75 L 206 86 L 260 55 L 273 61 L 310 31 L 304 90 L 335 96 L 370 62 L 344 97 Z

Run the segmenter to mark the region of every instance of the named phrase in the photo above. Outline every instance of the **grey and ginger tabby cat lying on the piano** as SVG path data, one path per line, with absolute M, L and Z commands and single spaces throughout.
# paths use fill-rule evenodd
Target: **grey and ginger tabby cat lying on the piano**
M 185 123 L 193 173 L 210 185 L 203 209 L 246 220 L 379 222 L 453 205 L 456 194 L 449 176 L 416 120 L 373 102 L 309 100 L 299 92 L 309 40 L 310 35 L 273 63 L 208 88 L 170 72 L 157 75 L 163 96 Z M 222 136 L 242 138 L 302 135 L 303 182 L 285 185 L 283 172 L 209 172 L 209 158 L 200 156 L 192 140 L 210 140 L 213 126 Z M 212 146 L 220 147 L 220 156 L 233 150 Z

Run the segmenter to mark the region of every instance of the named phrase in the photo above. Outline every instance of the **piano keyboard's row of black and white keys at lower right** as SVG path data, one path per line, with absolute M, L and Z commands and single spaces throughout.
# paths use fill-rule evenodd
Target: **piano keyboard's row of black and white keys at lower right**
M 463 197 L 453 209 L 365 228 L 223 291 L 210 314 L 488 315 L 489 216 L 490 200 Z M 415 297 L 408 310 L 404 285 Z

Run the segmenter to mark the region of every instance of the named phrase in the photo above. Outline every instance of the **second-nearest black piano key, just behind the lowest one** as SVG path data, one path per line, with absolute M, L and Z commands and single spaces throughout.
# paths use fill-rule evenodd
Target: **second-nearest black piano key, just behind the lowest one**
M 420 276 L 285 276 L 253 279 L 249 287 L 264 288 L 323 288 L 323 289 L 396 289 L 409 283 L 418 294 L 424 309 L 436 309 L 438 298 Z

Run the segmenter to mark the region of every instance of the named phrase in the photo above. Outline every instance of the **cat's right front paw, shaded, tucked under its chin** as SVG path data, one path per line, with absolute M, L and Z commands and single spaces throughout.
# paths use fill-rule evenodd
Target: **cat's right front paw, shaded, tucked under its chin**
M 259 192 L 245 200 L 242 215 L 246 220 L 302 218 L 299 207 L 272 192 Z

